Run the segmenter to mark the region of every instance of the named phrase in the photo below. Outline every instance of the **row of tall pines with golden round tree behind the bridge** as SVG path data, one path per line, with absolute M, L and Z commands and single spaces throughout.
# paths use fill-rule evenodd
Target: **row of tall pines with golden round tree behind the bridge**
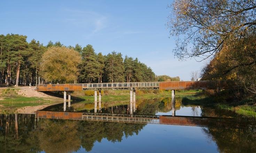
M 155 81 L 150 67 L 116 51 L 96 53 L 88 44 L 64 46 L 27 42 L 27 36 L 0 35 L 0 84 L 103 83 Z

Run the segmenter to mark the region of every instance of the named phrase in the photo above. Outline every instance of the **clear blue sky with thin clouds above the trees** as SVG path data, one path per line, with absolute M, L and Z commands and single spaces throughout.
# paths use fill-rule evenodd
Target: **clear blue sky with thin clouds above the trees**
M 17 33 L 43 44 L 93 45 L 95 51 L 138 57 L 156 75 L 190 79 L 190 72 L 206 63 L 178 61 L 165 23 L 171 0 L 2 1 L 0 33 Z

